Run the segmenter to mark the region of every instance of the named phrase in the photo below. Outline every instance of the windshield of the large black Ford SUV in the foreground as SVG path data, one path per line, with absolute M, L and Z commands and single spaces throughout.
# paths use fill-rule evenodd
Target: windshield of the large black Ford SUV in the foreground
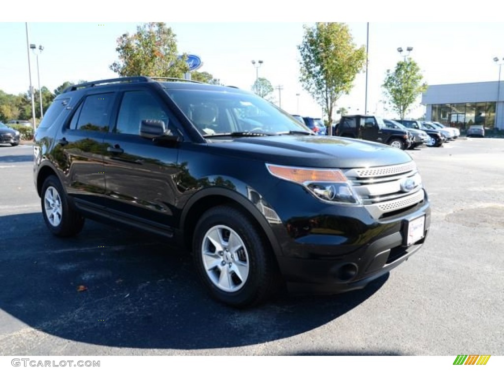
M 247 92 L 165 89 L 203 136 L 310 133 L 291 115 Z

